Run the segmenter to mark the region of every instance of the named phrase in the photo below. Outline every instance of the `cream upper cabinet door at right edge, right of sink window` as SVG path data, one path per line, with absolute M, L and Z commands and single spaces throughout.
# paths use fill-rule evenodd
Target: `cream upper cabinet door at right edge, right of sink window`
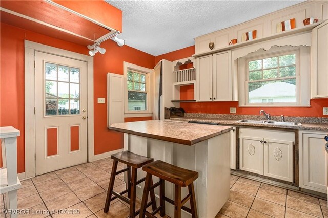
M 328 97 L 328 21 L 312 30 L 312 98 Z

